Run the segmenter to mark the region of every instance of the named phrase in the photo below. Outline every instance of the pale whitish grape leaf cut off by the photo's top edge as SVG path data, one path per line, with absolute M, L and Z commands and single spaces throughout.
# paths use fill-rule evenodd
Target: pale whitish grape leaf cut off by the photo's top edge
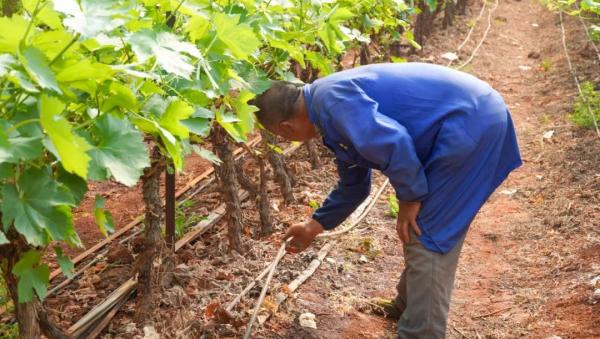
M 64 25 L 86 38 L 123 25 L 127 8 L 120 6 L 121 1 L 114 0 L 81 0 L 81 6 L 76 0 L 54 1 L 54 10 L 65 15 Z

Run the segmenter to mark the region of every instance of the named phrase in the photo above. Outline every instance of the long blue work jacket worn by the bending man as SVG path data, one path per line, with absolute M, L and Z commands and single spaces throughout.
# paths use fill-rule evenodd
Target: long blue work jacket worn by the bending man
M 421 201 L 421 243 L 450 251 L 507 175 L 521 165 L 502 97 L 446 67 L 375 64 L 304 87 L 309 119 L 336 156 L 340 180 L 313 215 L 325 229 L 369 195 L 371 169 L 402 201 Z

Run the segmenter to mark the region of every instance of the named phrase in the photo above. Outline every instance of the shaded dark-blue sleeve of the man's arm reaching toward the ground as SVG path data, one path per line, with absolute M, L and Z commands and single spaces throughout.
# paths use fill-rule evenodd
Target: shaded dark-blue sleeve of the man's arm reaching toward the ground
M 371 191 L 371 169 L 351 166 L 340 160 L 335 162 L 340 180 L 312 216 L 326 230 L 341 224 Z

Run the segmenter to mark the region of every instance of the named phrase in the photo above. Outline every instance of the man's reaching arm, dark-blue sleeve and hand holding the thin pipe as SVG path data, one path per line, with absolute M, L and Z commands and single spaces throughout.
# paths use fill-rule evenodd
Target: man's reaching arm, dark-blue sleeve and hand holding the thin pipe
M 335 162 L 340 176 L 337 186 L 311 220 L 294 224 L 287 230 L 284 239 L 293 238 L 287 246 L 289 252 L 305 250 L 319 233 L 337 227 L 369 196 L 371 170 L 340 160 Z

